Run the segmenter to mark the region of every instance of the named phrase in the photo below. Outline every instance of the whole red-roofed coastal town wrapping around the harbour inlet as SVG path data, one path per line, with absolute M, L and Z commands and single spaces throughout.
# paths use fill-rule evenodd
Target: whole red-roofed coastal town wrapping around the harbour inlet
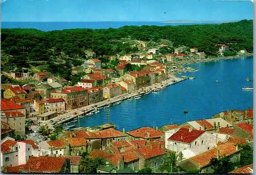
M 74 81 L 49 71 L 2 72 L 14 82 L 1 87 L 2 171 L 213 173 L 225 162 L 222 173 L 252 173 L 253 109 L 220 111 L 182 124 L 166 120 L 164 126 L 132 131 L 119 131 L 111 122 L 75 128 L 80 117 L 93 117 L 100 108 L 194 79 L 177 76 L 197 71 L 185 63 L 251 55 L 244 49 L 228 55 L 225 44 L 215 45 L 218 57 L 196 47 L 162 54 L 166 43 L 149 47 L 140 41 L 136 46 L 141 54 L 104 56 L 104 62 L 87 51 L 87 59 L 72 67 Z

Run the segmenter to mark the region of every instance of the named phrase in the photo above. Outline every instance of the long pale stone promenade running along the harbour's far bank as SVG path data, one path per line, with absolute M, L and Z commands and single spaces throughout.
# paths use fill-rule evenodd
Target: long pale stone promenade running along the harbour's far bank
M 54 126 L 50 123 L 50 120 L 42 121 L 40 123 L 40 125 L 47 125 L 49 129 L 53 130 L 54 127 L 59 125 L 59 124 L 68 122 L 70 120 L 73 120 L 73 118 L 75 118 L 77 116 L 85 115 L 86 113 L 89 113 L 90 111 L 93 110 L 92 107 L 94 107 L 95 105 L 97 105 L 97 108 L 108 106 L 109 104 L 114 104 L 116 102 L 123 101 L 124 99 L 144 94 L 146 91 L 152 91 L 152 90 L 155 90 L 155 89 L 159 89 L 161 87 L 173 85 L 175 83 L 178 83 L 178 82 L 181 82 L 181 81 L 184 81 L 184 80 L 186 80 L 186 79 L 176 77 L 173 74 L 169 74 L 167 80 L 164 80 L 161 83 L 156 83 L 156 84 L 153 84 L 151 86 L 147 86 L 147 87 L 143 88 L 142 90 L 137 90 L 137 91 L 134 91 L 132 93 L 122 94 L 119 97 L 113 97 L 113 98 L 105 99 L 102 102 L 98 102 L 98 103 L 95 103 L 95 104 L 92 104 L 92 105 L 88 105 L 88 106 L 84 106 L 84 107 L 81 107 L 81 108 L 69 110 L 66 114 L 58 115 L 58 116 L 51 119 L 53 121 L 57 121 L 57 123 Z M 175 81 L 175 82 L 173 82 L 173 81 Z M 82 112 L 82 110 L 86 110 L 86 111 Z M 77 113 L 77 114 L 74 114 L 74 113 Z M 65 119 L 61 119 L 61 118 L 65 118 Z M 60 120 L 60 121 L 58 121 L 58 120 Z

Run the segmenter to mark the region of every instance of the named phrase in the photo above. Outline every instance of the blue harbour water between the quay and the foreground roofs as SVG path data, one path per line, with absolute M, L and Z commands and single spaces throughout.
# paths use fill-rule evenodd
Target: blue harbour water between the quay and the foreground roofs
M 166 87 L 159 94 L 145 94 L 140 99 L 123 101 L 111 107 L 110 121 L 117 129 L 130 131 L 163 124 L 183 123 L 187 120 L 210 118 L 227 109 L 244 110 L 253 107 L 253 91 L 242 90 L 243 86 L 252 86 L 253 59 L 243 57 L 232 60 L 219 60 L 187 65 L 199 69 L 196 72 L 182 73 L 195 76 L 194 80 L 185 80 Z M 182 74 L 178 74 L 181 76 Z M 216 82 L 218 80 L 219 82 Z M 93 116 L 80 118 L 81 126 L 95 126 L 108 122 L 108 109 Z

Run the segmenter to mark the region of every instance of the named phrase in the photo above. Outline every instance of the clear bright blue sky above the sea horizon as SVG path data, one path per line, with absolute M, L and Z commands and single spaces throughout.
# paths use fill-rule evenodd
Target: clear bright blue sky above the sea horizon
M 253 18 L 252 2 L 246 0 L 2 0 L 1 10 L 2 21 L 166 21 Z

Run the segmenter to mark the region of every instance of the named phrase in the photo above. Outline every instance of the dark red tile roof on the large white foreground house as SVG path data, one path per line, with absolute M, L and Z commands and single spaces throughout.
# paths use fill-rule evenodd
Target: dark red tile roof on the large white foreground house
M 186 128 L 180 128 L 176 133 L 168 138 L 168 140 L 178 141 L 183 143 L 190 143 L 194 141 L 196 138 L 201 136 L 204 131 L 199 130 L 191 130 Z

